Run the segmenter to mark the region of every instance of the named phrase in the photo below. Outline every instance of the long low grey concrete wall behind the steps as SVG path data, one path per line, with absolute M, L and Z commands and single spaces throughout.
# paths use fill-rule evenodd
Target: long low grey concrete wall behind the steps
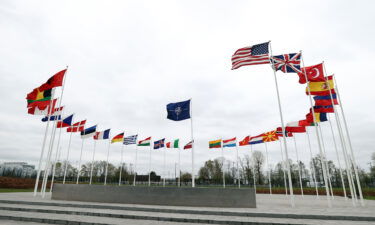
M 256 208 L 254 189 L 54 184 L 52 199 L 144 205 Z

